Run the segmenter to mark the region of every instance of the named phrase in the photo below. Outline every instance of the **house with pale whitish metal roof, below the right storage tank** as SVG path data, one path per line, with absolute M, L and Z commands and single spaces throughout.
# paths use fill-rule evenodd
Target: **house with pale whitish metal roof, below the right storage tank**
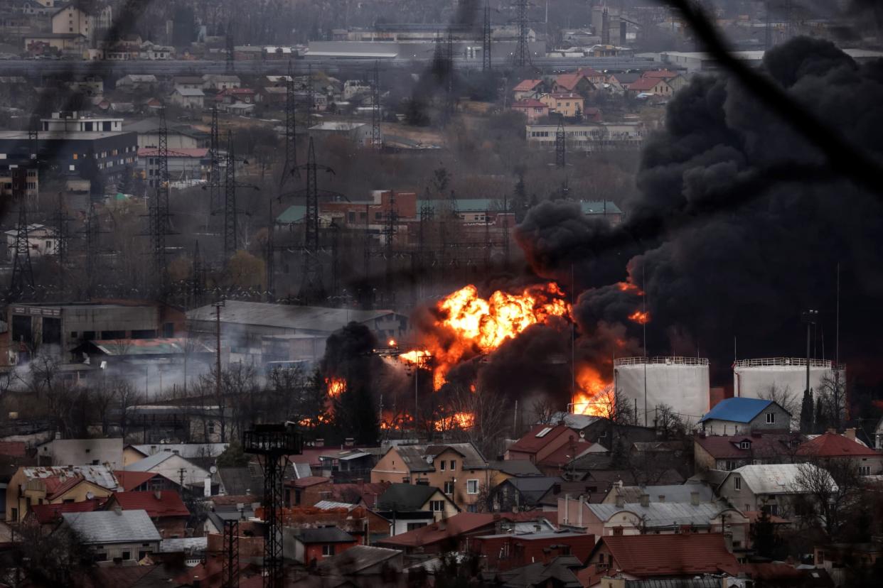
M 837 484 L 831 474 L 818 465 L 765 464 L 736 468 L 721 482 L 717 494 L 743 512 L 767 510 L 770 514 L 787 518 L 795 513 L 793 502 L 812 492 L 812 488 L 807 488 L 801 481 L 804 478 L 801 472 L 826 480 L 828 488 L 836 492 Z

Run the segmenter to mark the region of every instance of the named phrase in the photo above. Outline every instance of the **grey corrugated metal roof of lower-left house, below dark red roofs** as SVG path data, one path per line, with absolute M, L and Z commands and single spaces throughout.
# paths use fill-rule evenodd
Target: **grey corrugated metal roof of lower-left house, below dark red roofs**
M 87 545 L 162 540 L 145 510 L 65 512 L 62 517 Z

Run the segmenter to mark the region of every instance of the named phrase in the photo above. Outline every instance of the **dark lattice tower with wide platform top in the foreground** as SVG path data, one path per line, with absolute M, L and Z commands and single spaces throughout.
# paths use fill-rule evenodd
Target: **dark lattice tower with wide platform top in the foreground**
M 243 435 L 243 450 L 260 456 L 264 469 L 264 586 L 283 588 L 283 479 L 285 456 L 301 452 L 301 436 L 292 425 L 254 425 Z

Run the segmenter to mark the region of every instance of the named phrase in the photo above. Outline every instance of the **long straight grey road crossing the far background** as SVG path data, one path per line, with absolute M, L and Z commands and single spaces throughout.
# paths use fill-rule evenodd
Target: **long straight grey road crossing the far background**
M 383 68 L 421 69 L 427 62 L 413 60 L 388 59 L 381 61 Z M 458 70 L 480 70 L 481 62 L 474 59 L 455 59 Z M 341 71 L 361 70 L 374 65 L 373 59 L 360 58 L 320 58 L 305 57 L 291 62 L 296 74 L 306 73 L 307 68 L 336 74 Z M 282 75 L 288 71 L 289 62 L 283 60 L 253 60 L 234 63 L 237 74 L 245 76 Z M 500 60 L 495 67 L 509 69 L 511 63 Z M 645 59 L 625 57 L 538 57 L 532 66 L 544 73 L 575 70 L 577 67 L 592 67 L 596 70 L 645 70 L 659 67 Z M 26 76 L 46 78 L 55 76 L 79 77 L 86 75 L 104 78 L 119 78 L 127 74 L 154 74 L 155 76 L 187 76 L 206 73 L 223 74 L 227 71 L 227 63 L 223 60 L 198 61 L 67 61 L 52 59 L 19 59 L 0 61 L 0 76 Z

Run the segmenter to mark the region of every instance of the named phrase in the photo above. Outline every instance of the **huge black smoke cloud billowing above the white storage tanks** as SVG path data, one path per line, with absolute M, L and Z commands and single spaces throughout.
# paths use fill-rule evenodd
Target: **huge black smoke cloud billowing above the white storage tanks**
M 766 75 L 820 124 L 879 158 L 883 62 L 859 65 L 827 41 L 798 38 L 767 52 Z M 533 272 L 570 283 L 584 335 L 627 316 L 646 293 L 650 354 L 702 354 L 725 383 L 733 357 L 805 353 L 803 309 L 819 309 L 834 356 L 837 266 L 841 361 L 857 371 L 883 351 L 883 206 L 837 175 L 815 145 L 736 80 L 697 78 L 668 106 L 648 140 L 638 197 L 617 227 L 576 205 L 547 202 L 518 227 Z M 826 337 L 825 337 L 826 335 Z M 817 339 L 818 341 L 818 339 Z M 854 372 L 855 373 L 855 372 Z

